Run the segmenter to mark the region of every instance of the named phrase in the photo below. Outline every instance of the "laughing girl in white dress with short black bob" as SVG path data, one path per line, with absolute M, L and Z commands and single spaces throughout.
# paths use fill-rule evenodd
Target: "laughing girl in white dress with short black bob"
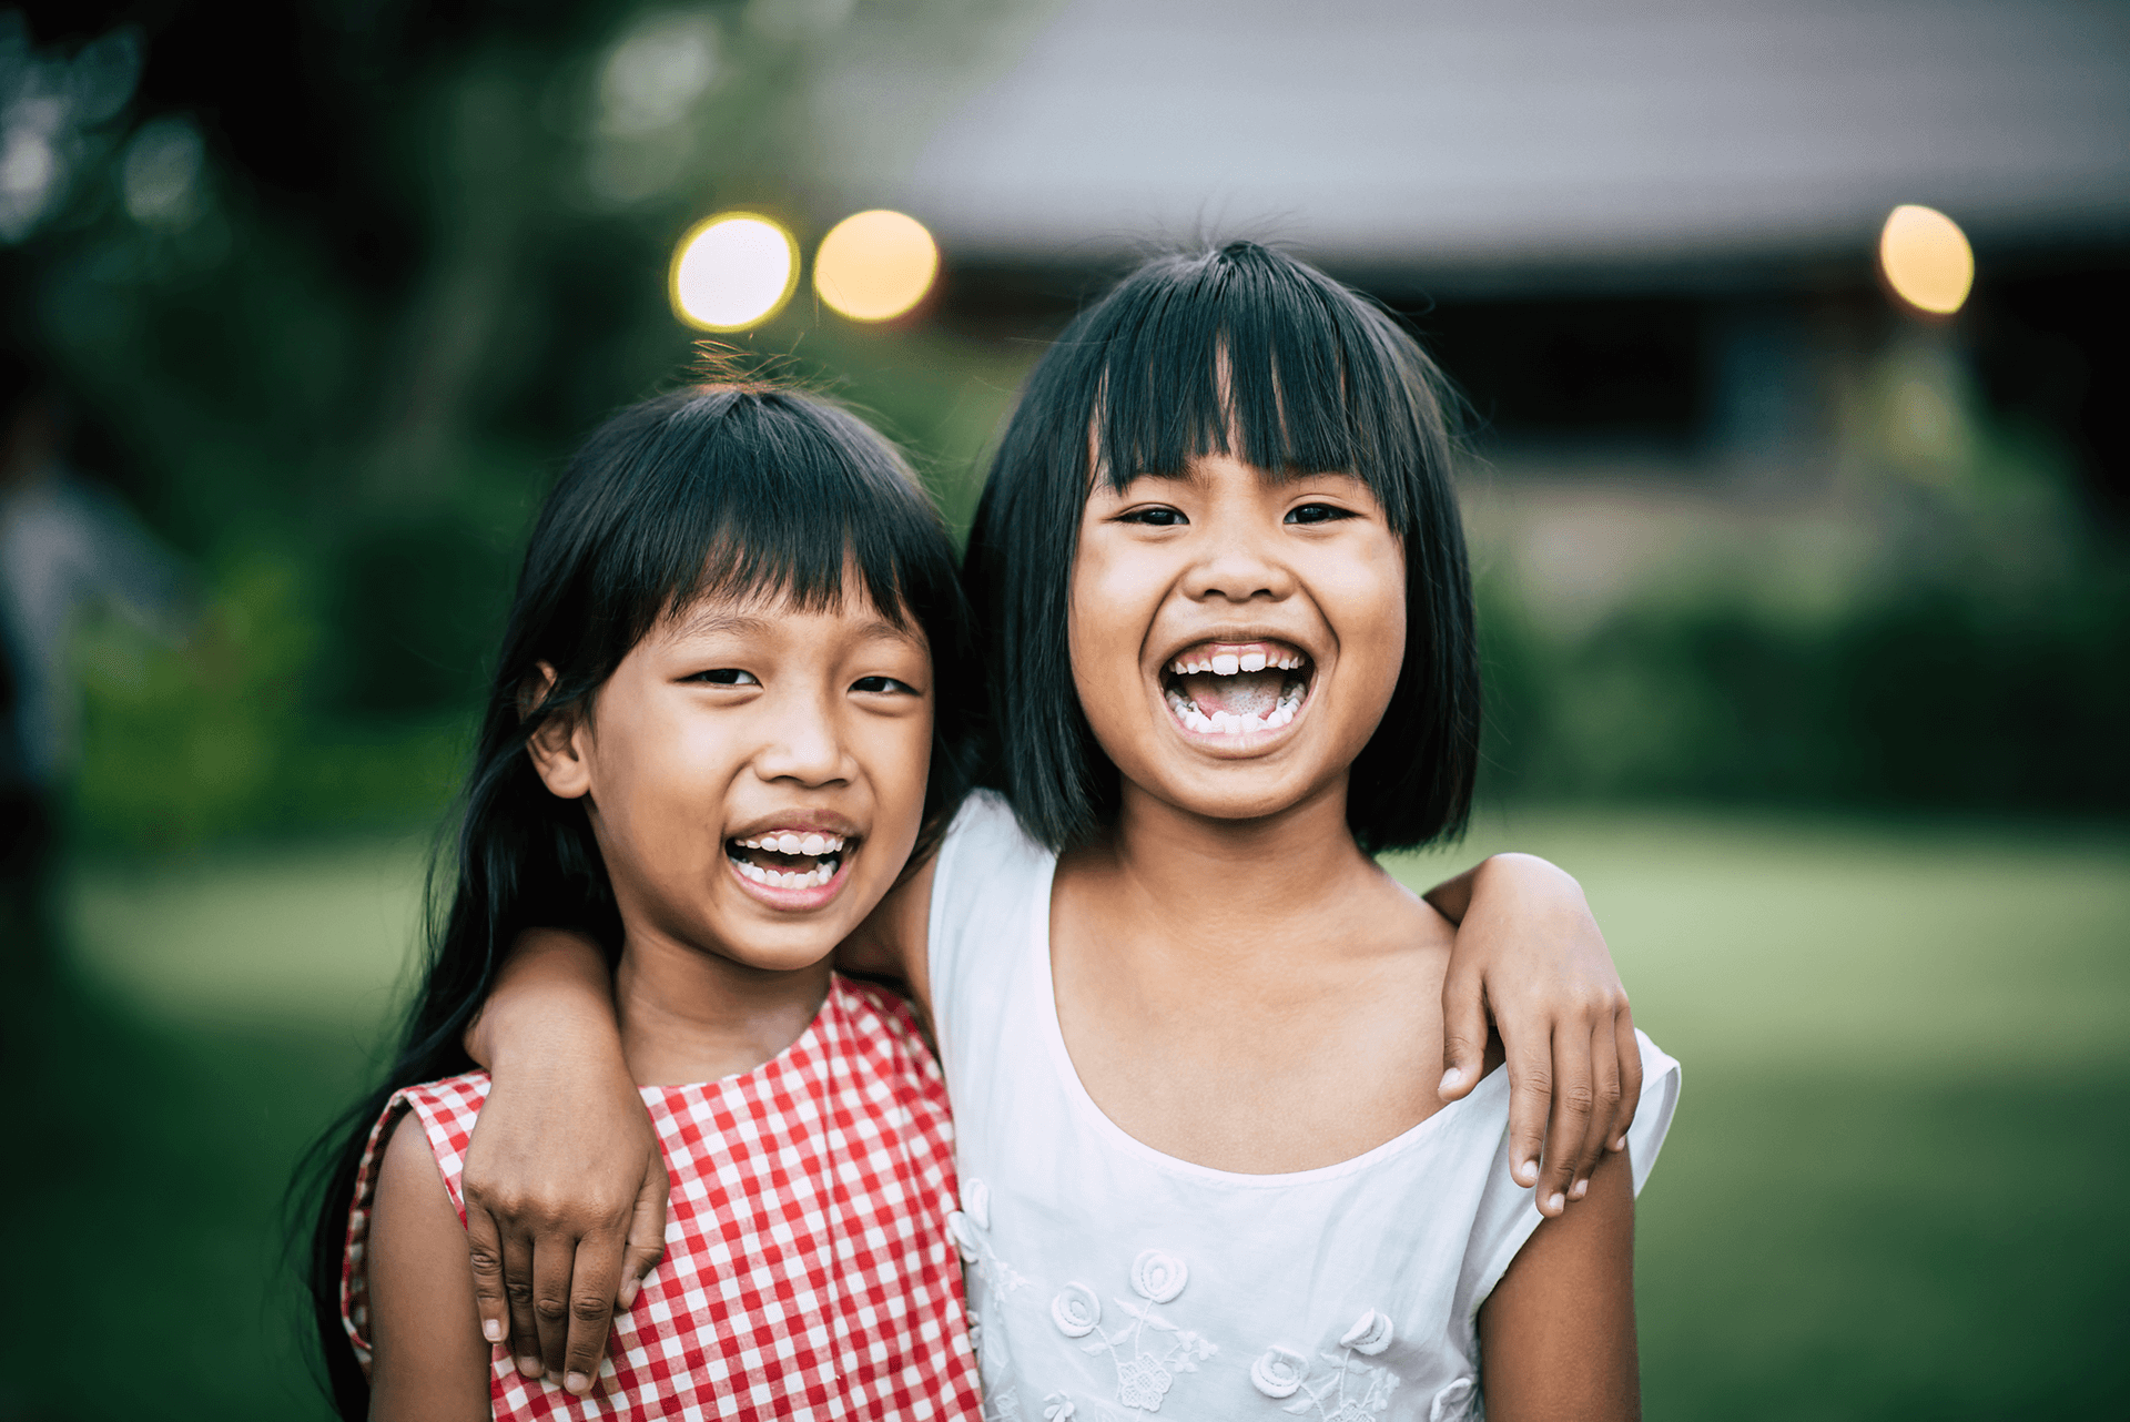
M 1031 375 L 965 560 L 990 790 L 846 943 L 937 1028 L 986 1416 L 1636 1409 L 1676 1062 L 1559 871 L 1423 903 L 1372 860 L 1472 796 L 1448 458 L 1410 336 L 1248 243 L 1148 264 Z M 479 1037 L 526 1062 L 486 1190 L 550 1201 L 490 1228 L 592 1275 L 635 1175 L 590 949 L 528 935 Z M 605 1160 L 524 1164 L 567 1128 Z

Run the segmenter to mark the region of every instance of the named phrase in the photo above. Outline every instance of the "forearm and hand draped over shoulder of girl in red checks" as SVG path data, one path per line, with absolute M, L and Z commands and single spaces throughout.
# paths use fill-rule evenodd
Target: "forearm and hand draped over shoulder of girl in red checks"
M 466 1147 L 466 1237 L 481 1333 L 526 1377 L 599 1377 L 613 1307 L 665 1254 L 667 1169 L 588 939 L 518 939 L 466 1054 L 494 1075 Z

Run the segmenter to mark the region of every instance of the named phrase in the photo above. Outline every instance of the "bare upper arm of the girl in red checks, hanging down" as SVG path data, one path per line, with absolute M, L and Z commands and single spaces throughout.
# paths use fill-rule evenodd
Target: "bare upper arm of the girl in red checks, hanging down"
M 466 1230 L 422 1124 L 400 1115 L 377 1169 L 366 1252 L 371 1418 L 464 1422 L 488 1416 L 490 1350 L 473 1330 Z

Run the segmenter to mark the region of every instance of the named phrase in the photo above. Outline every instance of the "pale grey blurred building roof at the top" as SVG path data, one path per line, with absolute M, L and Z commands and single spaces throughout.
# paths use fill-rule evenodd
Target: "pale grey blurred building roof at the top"
M 2111 0 L 1065 0 L 993 75 L 865 183 L 965 260 L 1725 264 L 1868 251 L 1896 202 L 2130 234 Z

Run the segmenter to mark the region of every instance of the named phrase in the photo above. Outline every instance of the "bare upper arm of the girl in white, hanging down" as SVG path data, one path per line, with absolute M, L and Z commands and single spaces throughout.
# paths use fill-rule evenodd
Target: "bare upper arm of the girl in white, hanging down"
M 1572 1218 L 1546 1220 L 1478 1311 L 1489 1422 L 1636 1422 L 1634 1171 L 1604 1156 Z

